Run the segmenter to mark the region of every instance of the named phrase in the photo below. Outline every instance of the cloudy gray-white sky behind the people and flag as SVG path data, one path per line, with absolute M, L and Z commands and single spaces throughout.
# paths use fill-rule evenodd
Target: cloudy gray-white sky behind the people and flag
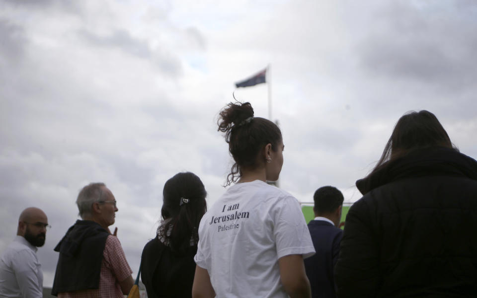
M 79 189 L 102 181 L 136 274 L 168 178 L 196 173 L 208 204 L 225 191 L 218 112 L 235 91 L 267 117 L 267 84 L 234 83 L 268 64 L 280 186 L 301 202 L 323 185 L 358 200 L 409 110 L 476 157 L 476 32 L 472 0 L 1 0 L 0 253 L 20 212 L 43 209 L 51 286 Z

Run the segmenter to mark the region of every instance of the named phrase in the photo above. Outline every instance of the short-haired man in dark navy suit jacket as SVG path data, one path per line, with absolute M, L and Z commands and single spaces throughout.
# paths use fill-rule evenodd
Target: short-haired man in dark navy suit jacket
M 338 260 L 343 231 L 338 228 L 343 194 L 332 186 L 318 188 L 313 196 L 315 219 L 308 224 L 316 254 L 305 259 L 312 297 L 335 298 L 333 269 Z

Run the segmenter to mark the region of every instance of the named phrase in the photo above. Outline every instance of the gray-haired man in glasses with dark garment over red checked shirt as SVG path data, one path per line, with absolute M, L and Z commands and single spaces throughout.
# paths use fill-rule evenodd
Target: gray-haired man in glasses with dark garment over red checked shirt
M 90 183 L 76 201 L 81 220 L 71 226 L 55 247 L 60 252 L 52 295 L 58 297 L 123 298 L 133 286 L 114 224 L 116 199 L 104 183 Z

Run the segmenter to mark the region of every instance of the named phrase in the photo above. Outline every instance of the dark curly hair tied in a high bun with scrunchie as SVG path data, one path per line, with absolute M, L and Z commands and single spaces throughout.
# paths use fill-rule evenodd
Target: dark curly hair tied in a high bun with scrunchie
M 226 185 L 236 182 L 242 175 L 242 168 L 255 169 L 260 162 L 258 153 L 267 144 L 276 151 L 282 140 L 278 126 L 270 120 L 253 117 L 249 102 L 231 102 L 219 113 L 218 131 L 224 133 L 229 144 L 229 152 L 235 163 L 227 176 Z

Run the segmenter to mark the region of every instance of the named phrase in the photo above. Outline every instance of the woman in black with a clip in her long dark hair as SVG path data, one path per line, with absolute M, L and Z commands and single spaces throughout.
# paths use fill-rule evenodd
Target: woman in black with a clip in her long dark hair
M 185 172 L 167 180 L 162 195 L 162 222 L 156 238 L 144 247 L 141 280 L 149 298 L 191 297 L 197 229 L 207 211 L 207 192 L 199 177 Z

